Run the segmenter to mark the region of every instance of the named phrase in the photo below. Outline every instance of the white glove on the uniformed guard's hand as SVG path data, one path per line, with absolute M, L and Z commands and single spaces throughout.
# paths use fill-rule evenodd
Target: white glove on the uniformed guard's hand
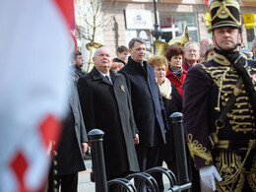
M 199 168 L 201 185 L 205 185 L 208 189 L 216 191 L 215 178 L 222 181 L 222 177 L 214 165 Z

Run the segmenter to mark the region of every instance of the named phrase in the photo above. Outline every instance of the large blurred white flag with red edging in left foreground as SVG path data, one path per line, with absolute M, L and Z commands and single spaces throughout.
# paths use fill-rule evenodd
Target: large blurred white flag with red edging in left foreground
M 73 0 L 0 6 L 0 192 L 39 191 L 67 109 Z

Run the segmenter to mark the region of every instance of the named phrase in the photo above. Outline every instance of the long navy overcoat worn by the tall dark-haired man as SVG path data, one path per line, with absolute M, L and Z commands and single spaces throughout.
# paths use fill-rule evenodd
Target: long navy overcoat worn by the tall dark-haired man
M 164 127 L 168 129 L 168 125 L 153 67 L 144 62 L 143 68 L 141 63 L 129 57 L 119 72 L 125 76 L 131 95 L 139 145 L 155 147 L 164 144 Z

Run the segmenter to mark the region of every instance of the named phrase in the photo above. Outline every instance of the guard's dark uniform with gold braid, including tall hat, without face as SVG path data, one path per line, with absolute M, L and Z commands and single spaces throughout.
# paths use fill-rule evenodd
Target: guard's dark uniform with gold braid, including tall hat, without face
M 214 0 L 210 9 L 210 30 L 240 28 L 237 0 Z M 215 51 L 188 70 L 183 86 L 190 154 L 199 170 L 216 167 L 218 191 L 256 191 L 255 63 L 239 51 Z

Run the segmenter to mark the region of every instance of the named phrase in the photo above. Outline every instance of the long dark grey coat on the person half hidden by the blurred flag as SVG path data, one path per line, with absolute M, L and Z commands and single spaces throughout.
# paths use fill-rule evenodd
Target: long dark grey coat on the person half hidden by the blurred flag
M 71 174 L 86 169 L 81 143 L 88 142 L 86 127 L 76 83 L 69 82 L 70 105 L 68 115 L 63 122 L 61 139 L 57 150 L 56 169 L 58 175 Z

